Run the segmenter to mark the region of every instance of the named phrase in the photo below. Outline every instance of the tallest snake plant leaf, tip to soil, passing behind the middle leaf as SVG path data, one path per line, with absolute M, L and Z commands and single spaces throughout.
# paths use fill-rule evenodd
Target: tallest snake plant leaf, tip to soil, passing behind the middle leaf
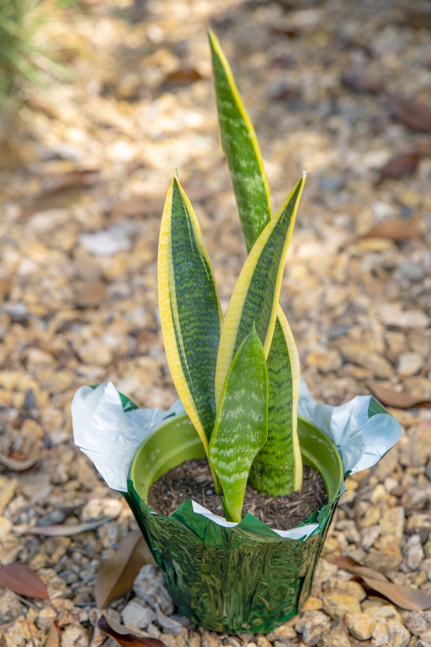
M 257 137 L 215 34 L 209 30 L 220 140 L 231 174 L 247 251 L 271 219 L 271 199 Z M 250 181 L 253 178 L 253 181 Z M 275 325 L 267 358 L 269 373 L 268 441 L 251 468 L 258 491 L 289 494 L 302 485 L 302 458 L 297 434 L 300 371 L 297 347 L 286 317 Z M 287 326 L 287 328 L 286 328 Z M 284 334 L 288 330 L 288 334 Z M 292 367 L 292 369 L 291 369 Z M 297 367 L 297 371 L 293 370 Z M 271 449 L 270 449 L 271 448 Z M 275 459 L 279 456 L 279 460 Z M 282 456 L 286 461 L 282 461 Z M 275 461 L 277 477 L 275 474 Z

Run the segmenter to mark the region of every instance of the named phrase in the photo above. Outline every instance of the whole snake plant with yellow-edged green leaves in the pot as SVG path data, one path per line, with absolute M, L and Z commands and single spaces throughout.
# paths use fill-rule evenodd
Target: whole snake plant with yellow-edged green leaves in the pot
M 279 299 L 305 175 L 273 215 L 255 131 L 211 30 L 209 43 L 220 140 L 249 256 L 223 320 L 211 260 L 175 173 L 160 230 L 158 299 L 174 385 L 216 492 L 222 488 L 226 518 L 240 521 L 248 480 L 270 496 L 302 486 L 299 356 Z

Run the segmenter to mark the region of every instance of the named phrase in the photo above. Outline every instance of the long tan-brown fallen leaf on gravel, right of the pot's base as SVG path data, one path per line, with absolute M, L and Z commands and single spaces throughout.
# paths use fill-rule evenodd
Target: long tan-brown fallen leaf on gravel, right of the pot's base
M 339 557 L 335 560 L 335 564 L 359 576 L 372 592 L 371 595 L 383 596 L 401 609 L 422 611 L 423 609 L 431 608 L 431 593 L 429 591 L 421 591 L 420 589 L 412 589 L 410 586 L 393 584 L 383 573 L 379 573 L 379 571 L 375 571 L 375 569 L 368 566 L 358 564 L 358 562 L 355 562 L 355 560 L 348 556 Z

